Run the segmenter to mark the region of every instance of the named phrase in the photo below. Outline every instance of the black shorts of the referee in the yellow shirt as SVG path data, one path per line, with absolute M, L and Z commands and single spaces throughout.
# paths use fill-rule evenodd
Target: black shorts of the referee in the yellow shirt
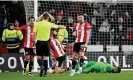
M 37 56 L 50 56 L 50 42 L 49 41 L 37 41 L 36 43 L 36 55 Z

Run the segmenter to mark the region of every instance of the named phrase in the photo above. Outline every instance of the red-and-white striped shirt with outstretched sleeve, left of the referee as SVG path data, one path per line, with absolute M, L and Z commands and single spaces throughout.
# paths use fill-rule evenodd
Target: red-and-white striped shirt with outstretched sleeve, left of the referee
M 33 27 L 30 27 L 28 25 L 24 25 L 21 27 L 16 27 L 16 30 L 24 30 L 25 32 L 25 37 L 24 37 L 24 47 L 26 48 L 33 48 Z

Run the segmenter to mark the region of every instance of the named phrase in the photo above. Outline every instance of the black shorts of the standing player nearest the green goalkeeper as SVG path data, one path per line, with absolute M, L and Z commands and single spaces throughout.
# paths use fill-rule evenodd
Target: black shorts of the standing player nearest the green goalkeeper
M 82 48 L 81 45 L 84 45 L 84 42 L 74 43 L 73 52 L 79 53 L 79 51 L 85 52 L 87 48 Z

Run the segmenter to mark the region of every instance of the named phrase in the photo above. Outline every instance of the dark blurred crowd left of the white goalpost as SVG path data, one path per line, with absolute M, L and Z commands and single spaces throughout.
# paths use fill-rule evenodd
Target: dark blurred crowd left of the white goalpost
M 14 23 L 16 26 L 26 24 L 25 7 L 22 1 L 0 1 L 0 41 L 7 23 Z

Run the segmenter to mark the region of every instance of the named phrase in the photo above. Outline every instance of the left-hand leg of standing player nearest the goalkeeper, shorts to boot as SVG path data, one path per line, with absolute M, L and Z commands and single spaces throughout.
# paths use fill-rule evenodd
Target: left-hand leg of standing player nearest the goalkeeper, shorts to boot
M 74 47 L 73 47 L 73 56 L 72 56 L 72 70 L 70 73 L 70 76 L 73 76 L 75 74 L 75 65 L 77 63 L 77 58 L 78 58 L 78 53 L 80 51 L 80 45 L 79 43 L 74 43 Z

